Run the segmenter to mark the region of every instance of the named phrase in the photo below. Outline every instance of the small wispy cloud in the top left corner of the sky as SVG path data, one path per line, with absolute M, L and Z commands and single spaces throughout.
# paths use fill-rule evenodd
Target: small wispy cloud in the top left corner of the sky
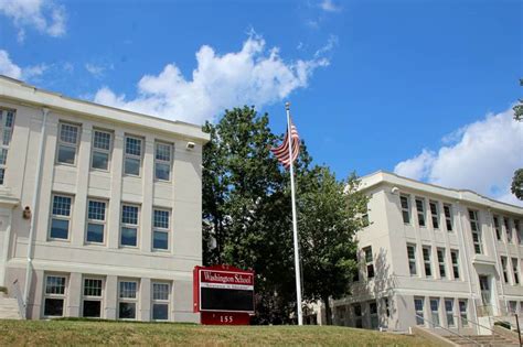
M 20 42 L 25 37 L 26 26 L 53 37 L 62 36 L 66 31 L 65 8 L 52 0 L 1 0 L 0 13 L 13 21 Z

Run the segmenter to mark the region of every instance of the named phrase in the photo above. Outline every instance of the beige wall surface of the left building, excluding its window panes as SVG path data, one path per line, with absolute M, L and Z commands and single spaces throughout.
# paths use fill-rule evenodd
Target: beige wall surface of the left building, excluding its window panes
M 64 316 L 83 315 L 85 280 L 99 279 L 100 316 L 117 318 L 119 282 L 128 279 L 137 283 L 136 297 L 130 300 L 136 304 L 136 319 L 152 318 L 153 283 L 166 283 L 168 319 L 196 322 L 192 269 L 202 262 L 202 145 L 209 134 L 196 126 L 70 99 L 7 77 L 0 77 L 0 110 L 15 112 L 0 186 L 0 285 L 10 288 L 17 281 L 24 292 L 33 221 L 28 317 L 45 316 L 45 299 L 52 296 L 45 293 L 46 276 L 58 275 L 65 278 L 65 293 L 56 295 L 64 300 Z M 57 162 L 61 123 L 78 127 L 75 164 Z M 95 130 L 111 134 L 106 171 L 90 165 Z M 142 140 L 139 176 L 122 172 L 127 135 Z M 158 142 L 171 145 L 169 181 L 154 177 Z M 65 240 L 50 237 L 53 194 L 72 198 Z M 89 199 L 106 203 L 102 243 L 86 240 Z M 137 247 L 120 242 L 122 204 L 138 206 Z M 33 219 L 23 218 L 25 206 Z M 152 247 L 154 209 L 169 215 L 167 250 Z

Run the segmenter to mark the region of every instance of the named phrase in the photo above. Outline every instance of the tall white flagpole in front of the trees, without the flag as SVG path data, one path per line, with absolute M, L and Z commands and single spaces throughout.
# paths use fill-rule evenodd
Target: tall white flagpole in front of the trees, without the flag
M 298 221 L 296 218 L 296 197 L 295 197 L 295 169 L 292 161 L 292 133 L 290 127 L 290 102 L 285 102 L 287 111 L 287 133 L 289 140 L 289 161 L 290 161 L 290 191 L 292 199 L 292 236 L 295 240 L 295 272 L 296 272 L 296 302 L 298 306 L 298 325 L 303 325 L 303 313 L 301 312 L 301 272 L 300 254 L 298 246 Z

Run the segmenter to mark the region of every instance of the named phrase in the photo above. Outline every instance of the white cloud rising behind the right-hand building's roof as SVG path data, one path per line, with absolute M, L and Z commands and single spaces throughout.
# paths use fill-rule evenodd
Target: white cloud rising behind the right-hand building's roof
M 523 166 L 523 123 L 513 120 L 512 108 L 487 115 L 444 139 L 447 145 L 437 152 L 423 150 L 394 172 L 523 206 L 510 193 L 514 171 Z

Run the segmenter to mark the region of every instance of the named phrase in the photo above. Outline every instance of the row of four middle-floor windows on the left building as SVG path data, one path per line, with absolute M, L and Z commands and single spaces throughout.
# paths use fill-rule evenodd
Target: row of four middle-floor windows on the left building
M 73 197 L 67 195 L 53 195 L 51 224 L 49 238 L 68 240 Z M 107 238 L 107 207 L 108 200 L 98 198 L 87 199 L 87 220 L 85 242 L 104 245 Z M 169 250 L 171 212 L 162 208 L 152 210 L 152 249 Z M 121 204 L 120 210 L 120 247 L 138 247 L 140 229 L 140 206 Z

